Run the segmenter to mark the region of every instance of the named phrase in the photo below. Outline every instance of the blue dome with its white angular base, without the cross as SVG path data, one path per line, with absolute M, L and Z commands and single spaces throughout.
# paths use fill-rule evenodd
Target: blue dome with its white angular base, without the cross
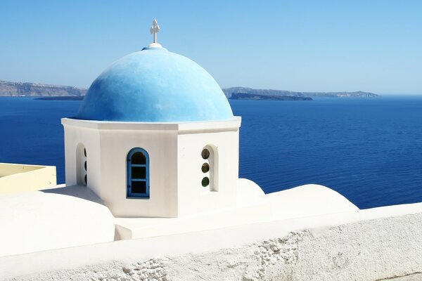
M 108 67 L 62 124 L 66 184 L 87 185 L 114 216 L 236 206 L 241 118 L 210 74 L 160 44 Z

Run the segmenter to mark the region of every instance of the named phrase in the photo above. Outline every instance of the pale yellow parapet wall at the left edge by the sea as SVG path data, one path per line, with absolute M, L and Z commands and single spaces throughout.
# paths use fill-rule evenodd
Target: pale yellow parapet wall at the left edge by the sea
M 0 195 L 56 186 L 56 166 L 0 163 Z

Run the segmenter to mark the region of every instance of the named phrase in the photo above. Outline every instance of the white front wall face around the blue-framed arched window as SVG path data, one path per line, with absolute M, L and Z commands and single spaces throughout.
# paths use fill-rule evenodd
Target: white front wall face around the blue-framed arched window
M 101 130 L 102 197 L 115 216 L 177 216 L 177 133 Z M 148 152 L 150 197 L 127 198 L 127 154 Z

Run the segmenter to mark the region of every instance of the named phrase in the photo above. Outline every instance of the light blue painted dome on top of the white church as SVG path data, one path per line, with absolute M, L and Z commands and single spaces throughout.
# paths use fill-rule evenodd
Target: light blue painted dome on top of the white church
M 143 48 L 108 67 L 89 87 L 77 119 L 129 122 L 233 118 L 219 85 L 198 64 L 165 48 Z

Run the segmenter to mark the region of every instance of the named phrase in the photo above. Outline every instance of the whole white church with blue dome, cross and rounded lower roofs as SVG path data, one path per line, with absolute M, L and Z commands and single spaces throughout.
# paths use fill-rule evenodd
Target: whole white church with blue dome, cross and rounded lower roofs
M 210 231 L 226 247 L 362 219 L 321 185 L 265 195 L 238 178 L 241 117 L 207 71 L 157 43 L 158 31 L 154 21 L 153 43 L 104 70 L 62 119 L 65 185 L 0 196 L 0 257 L 174 235 L 189 249 L 189 235 Z

